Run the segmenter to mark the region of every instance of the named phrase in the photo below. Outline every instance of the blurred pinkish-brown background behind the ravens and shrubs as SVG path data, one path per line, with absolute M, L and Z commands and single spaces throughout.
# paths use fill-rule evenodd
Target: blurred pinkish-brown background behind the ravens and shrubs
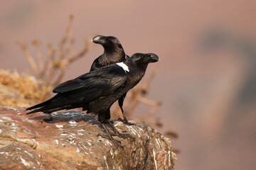
M 18 41 L 40 40 L 43 55 L 65 34 L 73 14 L 74 48 L 95 34 L 119 38 L 127 55 L 154 52 L 147 98 L 152 115 L 178 134 L 176 169 L 255 169 L 255 1 L 2 1 L 0 68 L 31 71 Z M 88 72 L 100 45 L 68 66 L 63 81 Z M 125 103 L 125 101 L 124 101 Z M 140 105 L 134 118 L 148 112 Z

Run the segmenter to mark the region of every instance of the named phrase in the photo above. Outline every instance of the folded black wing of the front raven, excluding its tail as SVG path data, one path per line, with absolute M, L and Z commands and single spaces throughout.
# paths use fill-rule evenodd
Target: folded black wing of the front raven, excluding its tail
M 90 102 L 96 98 L 112 94 L 127 80 L 127 74 L 122 67 L 112 64 L 93 72 L 65 81 L 53 89 L 54 93 L 65 93 L 69 99 L 80 98 L 82 102 Z M 82 97 L 82 98 L 81 98 Z

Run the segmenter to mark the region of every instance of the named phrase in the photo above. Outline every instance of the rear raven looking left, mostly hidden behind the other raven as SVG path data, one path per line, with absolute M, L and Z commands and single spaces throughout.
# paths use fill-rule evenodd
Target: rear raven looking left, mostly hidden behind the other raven
M 97 35 L 95 38 L 92 38 L 92 42 L 102 45 L 102 47 L 104 48 L 104 53 L 103 55 L 100 55 L 100 57 L 97 57 L 97 59 L 95 59 L 95 61 L 92 63 L 90 72 L 110 64 L 124 62 L 125 60 L 127 60 L 127 58 L 129 58 L 129 56 L 125 54 L 119 40 L 113 36 Z M 122 108 L 126 95 L 127 94 L 124 94 L 118 100 L 118 105 L 121 108 L 122 115 L 124 117 L 124 120 L 122 120 L 121 118 L 119 118 L 118 120 L 122 121 L 122 123 L 125 123 L 127 125 L 133 125 L 132 123 L 128 122 L 124 113 L 124 109 Z

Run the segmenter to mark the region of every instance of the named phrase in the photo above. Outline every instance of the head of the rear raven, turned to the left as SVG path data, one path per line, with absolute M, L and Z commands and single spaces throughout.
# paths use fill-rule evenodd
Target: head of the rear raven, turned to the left
M 97 35 L 95 38 L 92 38 L 92 42 L 95 42 L 96 44 L 101 44 L 105 48 L 105 50 L 111 48 L 115 49 L 116 47 L 122 48 L 119 40 L 113 36 Z

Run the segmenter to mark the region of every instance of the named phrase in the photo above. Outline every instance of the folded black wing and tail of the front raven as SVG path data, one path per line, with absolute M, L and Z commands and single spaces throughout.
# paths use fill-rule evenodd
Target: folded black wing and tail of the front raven
M 123 86 L 126 80 L 127 74 L 117 64 L 102 67 L 93 72 L 83 74 L 76 79 L 59 84 L 53 89 L 53 92 L 58 94 L 48 101 L 27 108 L 26 110 L 38 108 L 27 114 L 38 111 L 51 113 L 60 109 L 72 108 L 71 106 L 80 106 L 82 103 L 95 101 L 97 98 L 112 94 L 114 90 Z

